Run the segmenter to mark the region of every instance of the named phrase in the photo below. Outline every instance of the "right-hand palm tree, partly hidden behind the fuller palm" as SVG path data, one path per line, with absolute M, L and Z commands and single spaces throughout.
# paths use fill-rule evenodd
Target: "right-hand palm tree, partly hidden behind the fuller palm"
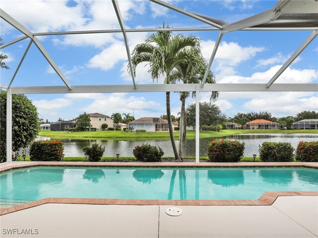
M 196 49 L 186 49 L 185 53 L 188 55 L 188 61 L 178 64 L 171 73 L 171 81 L 173 83 L 201 83 L 207 70 L 208 63 L 204 60 L 201 51 Z M 188 63 L 191 62 L 191 63 Z M 215 75 L 209 71 L 206 83 L 216 83 Z M 179 156 L 183 155 L 183 143 L 186 137 L 187 117 L 185 110 L 185 99 L 189 97 L 189 92 L 180 92 L 181 112 L 180 112 L 180 124 L 179 124 Z M 192 97 L 195 96 L 195 92 L 192 92 Z M 212 92 L 211 101 L 214 101 L 219 96 L 219 92 Z

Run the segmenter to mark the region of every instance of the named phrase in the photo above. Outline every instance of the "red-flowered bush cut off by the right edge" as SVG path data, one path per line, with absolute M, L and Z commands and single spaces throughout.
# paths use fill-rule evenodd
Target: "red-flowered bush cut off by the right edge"
M 300 141 L 296 149 L 296 160 L 318 162 L 318 141 Z

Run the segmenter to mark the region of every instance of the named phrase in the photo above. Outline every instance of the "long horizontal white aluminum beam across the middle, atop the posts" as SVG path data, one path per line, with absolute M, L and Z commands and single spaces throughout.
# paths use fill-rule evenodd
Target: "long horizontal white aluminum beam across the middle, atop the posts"
M 132 93 L 132 92 L 194 92 L 199 84 L 138 84 L 132 85 L 87 85 L 11 87 L 12 94 L 50 94 L 50 93 Z M 318 92 L 318 83 L 275 83 L 267 88 L 266 83 L 209 83 L 200 92 Z

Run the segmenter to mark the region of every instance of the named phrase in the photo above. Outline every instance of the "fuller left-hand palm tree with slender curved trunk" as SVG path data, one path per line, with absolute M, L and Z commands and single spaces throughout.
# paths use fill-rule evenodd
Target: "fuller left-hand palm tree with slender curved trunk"
M 162 28 L 169 28 L 169 26 L 165 26 L 163 23 Z M 149 72 L 151 73 L 152 79 L 158 81 L 159 77 L 164 77 L 164 83 L 170 84 L 172 70 L 180 63 L 188 61 L 187 55 L 184 52 L 187 48 L 196 48 L 199 50 L 200 40 L 197 37 L 186 37 L 182 34 L 172 35 L 171 31 L 158 31 L 146 39 L 145 43 L 138 44 L 135 47 L 132 53 L 133 72 L 130 73 L 136 73 L 136 67 L 139 63 L 149 62 Z M 166 92 L 165 96 L 172 149 L 174 157 L 180 159 L 173 135 L 170 112 L 170 92 Z

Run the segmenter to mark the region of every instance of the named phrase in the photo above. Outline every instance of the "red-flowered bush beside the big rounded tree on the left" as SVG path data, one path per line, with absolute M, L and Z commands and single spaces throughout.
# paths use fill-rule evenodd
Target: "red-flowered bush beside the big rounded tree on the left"
M 63 150 L 64 147 L 61 140 L 34 141 L 30 148 L 30 160 L 61 161 Z

